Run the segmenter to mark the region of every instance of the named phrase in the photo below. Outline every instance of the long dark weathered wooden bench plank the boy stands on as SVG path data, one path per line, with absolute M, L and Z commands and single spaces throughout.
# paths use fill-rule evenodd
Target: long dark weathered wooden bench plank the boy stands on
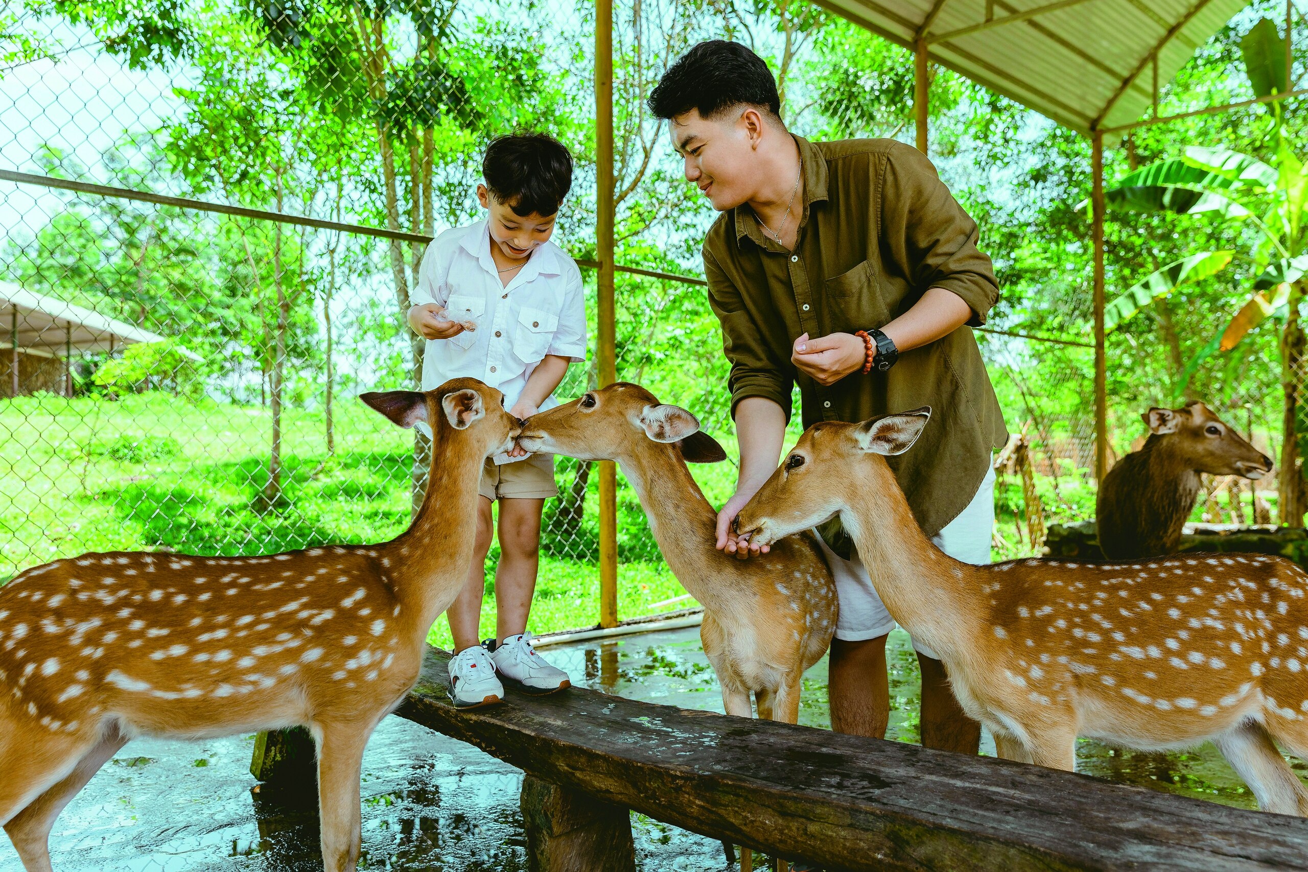
M 530 775 L 828 869 L 1308 869 L 1308 820 L 573 688 L 456 710 L 432 648 L 396 714 Z

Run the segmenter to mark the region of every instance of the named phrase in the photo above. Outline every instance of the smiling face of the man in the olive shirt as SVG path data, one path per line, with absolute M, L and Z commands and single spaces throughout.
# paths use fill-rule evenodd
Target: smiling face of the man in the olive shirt
M 734 209 L 753 197 L 759 188 L 753 149 L 760 129 L 759 112 L 734 107 L 714 118 L 700 110 L 668 122 L 672 148 L 685 163 L 685 180 L 693 182 L 718 212 Z

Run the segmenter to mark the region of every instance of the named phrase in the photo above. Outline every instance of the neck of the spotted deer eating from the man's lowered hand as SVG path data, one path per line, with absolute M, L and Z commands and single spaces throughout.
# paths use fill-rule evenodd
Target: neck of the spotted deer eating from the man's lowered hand
M 982 582 L 976 575 L 985 570 L 942 552 L 913 518 L 889 467 L 876 456 L 865 463 L 863 476 L 846 480 L 846 488 L 858 486 L 848 493 L 841 523 L 891 617 L 947 656 L 984 622 L 977 600 Z

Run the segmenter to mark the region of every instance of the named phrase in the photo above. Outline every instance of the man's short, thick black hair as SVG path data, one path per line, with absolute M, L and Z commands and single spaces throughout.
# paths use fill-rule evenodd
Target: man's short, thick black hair
M 681 55 L 650 93 L 654 118 L 672 118 L 692 109 L 712 118 L 748 103 L 781 118 L 777 80 L 763 58 L 738 42 L 710 39 Z

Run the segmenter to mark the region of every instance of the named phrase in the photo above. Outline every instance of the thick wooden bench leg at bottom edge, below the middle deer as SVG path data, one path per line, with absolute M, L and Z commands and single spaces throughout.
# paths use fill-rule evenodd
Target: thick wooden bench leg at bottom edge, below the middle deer
M 527 775 L 522 821 L 531 872 L 634 872 L 636 845 L 625 808 Z

